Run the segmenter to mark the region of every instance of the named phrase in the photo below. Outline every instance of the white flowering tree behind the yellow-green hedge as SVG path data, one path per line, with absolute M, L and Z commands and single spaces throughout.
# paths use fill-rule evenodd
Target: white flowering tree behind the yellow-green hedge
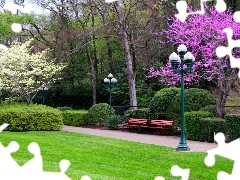
M 65 67 L 50 60 L 49 49 L 31 52 L 32 40 L 13 43 L 7 50 L 0 51 L 0 88 L 11 95 L 18 95 L 30 104 L 42 84 L 58 78 Z

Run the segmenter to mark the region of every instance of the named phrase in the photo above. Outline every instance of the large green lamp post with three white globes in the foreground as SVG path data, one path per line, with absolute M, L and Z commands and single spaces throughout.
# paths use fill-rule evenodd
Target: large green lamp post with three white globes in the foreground
M 173 71 L 181 75 L 181 138 L 179 145 L 177 146 L 177 151 L 189 151 L 190 148 L 187 145 L 185 137 L 185 125 L 184 125 L 184 73 L 191 73 L 193 62 L 195 60 L 194 56 L 187 52 L 185 45 L 181 44 L 178 49 L 179 56 L 173 52 L 169 56 L 169 60 L 172 64 Z M 180 64 L 180 68 L 179 68 Z M 183 68 L 183 65 L 187 65 L 187 69 Z

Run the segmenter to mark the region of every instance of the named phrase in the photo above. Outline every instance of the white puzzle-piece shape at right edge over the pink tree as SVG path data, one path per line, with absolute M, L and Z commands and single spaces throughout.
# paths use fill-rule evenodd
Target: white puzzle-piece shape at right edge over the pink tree
M 231 28 L 223 29 L 223 32 L 227 34 L 228 40 L 228 47 L 219 46 L 216 48 L 216 55 L 219 58 L 222 58 L 226 55 L 230 58 L 230 66 L 232 68 L 240 68 L 240 58 L 234 58 L 232 55 L 233 48 L 239 47 L 240 48 L 240 39 L 233 40 L 233 30 Z M 238 77 L 240 78 L 240 72 L 238 73 Z

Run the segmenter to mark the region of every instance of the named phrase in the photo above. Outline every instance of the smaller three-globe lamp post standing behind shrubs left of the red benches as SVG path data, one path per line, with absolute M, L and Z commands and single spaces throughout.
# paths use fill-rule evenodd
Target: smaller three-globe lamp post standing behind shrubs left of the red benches
M 110 97 L 109 97 L 109 103 L 110 103 L 110 110 L 109 110 L 109 117 L 112 116 L 112 89 L 116 87 L 117 79 L 113 77 L 113 75 L 110 73 L 107 78 L 104 79 L 104 86 L 105 88 L 109 89 Z

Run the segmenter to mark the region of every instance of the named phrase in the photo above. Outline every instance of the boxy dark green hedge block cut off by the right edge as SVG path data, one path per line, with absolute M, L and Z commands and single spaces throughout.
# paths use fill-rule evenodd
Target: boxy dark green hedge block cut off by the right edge
M 233 141 L 240 137 L 240 115 L 226 114 L 226 136 L 228 141 Z

